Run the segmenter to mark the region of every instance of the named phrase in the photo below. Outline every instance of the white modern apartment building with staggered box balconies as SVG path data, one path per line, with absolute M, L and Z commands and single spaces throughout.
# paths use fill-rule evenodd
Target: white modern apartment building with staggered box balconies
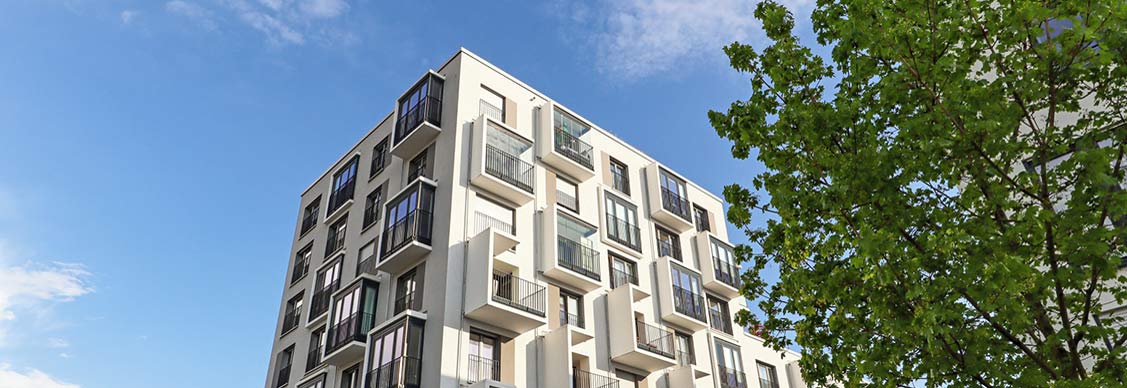
M 722 210 L 460 50 L 302 193 L 266 388 L 805 387 Z

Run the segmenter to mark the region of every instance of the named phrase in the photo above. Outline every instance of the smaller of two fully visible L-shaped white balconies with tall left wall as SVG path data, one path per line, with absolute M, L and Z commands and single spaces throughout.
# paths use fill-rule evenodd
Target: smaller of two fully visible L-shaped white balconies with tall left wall
M 606 294 L 611 359 L 645 371 L 657 371 L 676 363 L 673 332 L 642 320 L 633 308 L 629 288 Z

